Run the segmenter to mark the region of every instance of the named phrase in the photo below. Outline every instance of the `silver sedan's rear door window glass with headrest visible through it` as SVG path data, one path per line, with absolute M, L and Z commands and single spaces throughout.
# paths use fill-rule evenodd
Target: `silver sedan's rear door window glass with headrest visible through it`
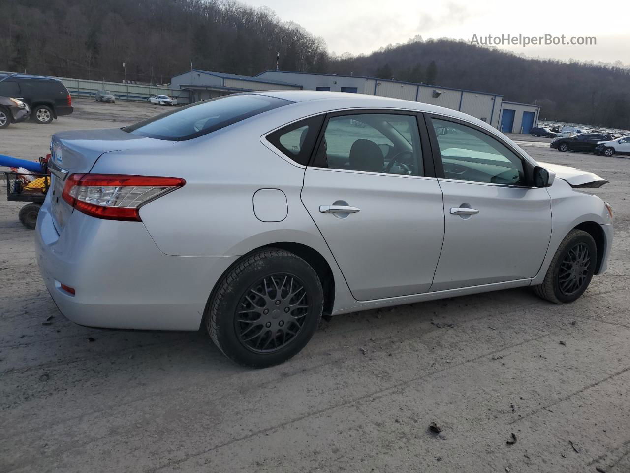
M 314 165 L 333 169 L 423 175 L 415 115 L 360 114 L 331 117 Z

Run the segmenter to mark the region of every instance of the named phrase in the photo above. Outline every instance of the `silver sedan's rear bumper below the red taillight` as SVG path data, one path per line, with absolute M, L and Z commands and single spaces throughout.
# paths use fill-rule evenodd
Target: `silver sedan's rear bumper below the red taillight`
M 76 211 L 59 235 L 50 198 L 35 233 L 37 262 L 57 307 L 72 322 L 90 327 L 197 330 L 215 281 L 236 260 L 165 255 L 142 222 Z

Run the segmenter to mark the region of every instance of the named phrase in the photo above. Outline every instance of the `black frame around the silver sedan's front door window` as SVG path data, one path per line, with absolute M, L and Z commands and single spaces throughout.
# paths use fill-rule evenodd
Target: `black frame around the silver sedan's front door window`
M 443 120 L 445 122 L 452 122 L 458 125 L 471 127 L 472 129 L 479 131 L 486 136 L 495 139 L 500 144 L 505 146 L 507 149 L 512 151 L 517 158 L 519 158 L 523 163 L 523 172 L 525 174 L 525 184 L 496 184 L 494 182 L 478 182 L 472 180 L 463 180 L 463 179 L 450 179 L 444 177 L 444 165 L 442 165 L 442 153 L 440 153 L 440 146 L 437 141 L 437 135 L 435 134 L 435 129 L 433 129 L 432 120 Z M 535 163 L 532 163 L 529 158 L 525 157 L 520 151 L 514 148 L 510 143 L 500 139 L 500 137 L 492 134 L 488 130 L 480 127 L 474 123 L 467 122 L 466 120 L 459 120 L 453 117 L 447 117 L 445 115 L 437 115 L 437 114 L 425 114 L 425 126 L 427 127 L 427 132 L 429 135 L 429 139 L 431 142 L 431 149 L 433 154 L 433 162 L 435 163 L 435 176 L 440 180 L 445 180 L 449 182 L 461 182 L 462 184 L 478 184 L 478 185 L 493 185 L 495 187 L 516 187 L 518 189 L 532 189 L 536 187 L 534 185 L 534 166 Z

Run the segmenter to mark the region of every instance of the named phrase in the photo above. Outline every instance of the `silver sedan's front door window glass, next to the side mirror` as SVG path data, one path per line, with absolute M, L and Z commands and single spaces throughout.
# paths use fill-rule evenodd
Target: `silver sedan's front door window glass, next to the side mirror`
M 526 185 L 523 161 L 497 139 L 459 123 L 432 122 L 445 178 Z

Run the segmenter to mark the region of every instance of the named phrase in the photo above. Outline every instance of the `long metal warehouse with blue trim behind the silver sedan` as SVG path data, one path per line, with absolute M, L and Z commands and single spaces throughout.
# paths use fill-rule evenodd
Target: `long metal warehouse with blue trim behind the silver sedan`
M 190 102 L 251 90 L 331 90 L 365 93 L 460 110 L 502 132 L 529 133 L 540 107 L 506 102 L 498 93 L 454 89 L 366 76 L 264 71 L 255 77 L 193 69 L 171 79 L 171 88 L 186 90 Z

